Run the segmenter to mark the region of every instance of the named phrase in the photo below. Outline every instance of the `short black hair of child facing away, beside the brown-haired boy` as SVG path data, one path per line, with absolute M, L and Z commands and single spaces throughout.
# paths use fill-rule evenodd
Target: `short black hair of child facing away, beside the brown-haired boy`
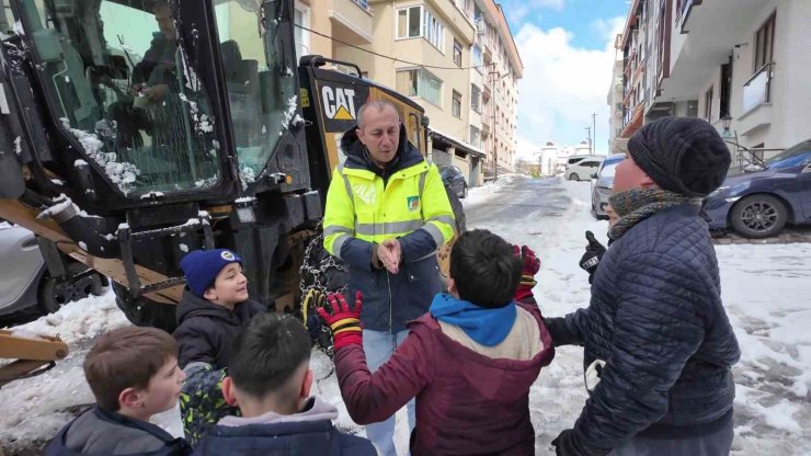
M 310 358 L 310 338 L 296 318 L 260 314 L 237 335 L 228 375 L 241 391 L 262 398 L 278 390 Z

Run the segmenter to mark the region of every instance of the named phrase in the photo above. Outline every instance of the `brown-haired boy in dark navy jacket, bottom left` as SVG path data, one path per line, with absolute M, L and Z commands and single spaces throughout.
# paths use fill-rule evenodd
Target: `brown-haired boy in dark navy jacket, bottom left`
M 172 337 L 156 328 L 127 327 L 99 338 L 84 360 L 95 407 L 62 428 L 45 455 L 191 454 L 183 438 L 149 423 L 178 403 L 185 374 L 176 355 Z

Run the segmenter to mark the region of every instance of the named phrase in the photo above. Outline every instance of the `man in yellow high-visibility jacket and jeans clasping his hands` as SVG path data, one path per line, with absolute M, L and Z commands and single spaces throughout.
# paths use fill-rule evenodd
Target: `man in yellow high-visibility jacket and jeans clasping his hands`
M 439 172 L 408 141 L 397 109 L 372 101 L 357 114 L 341 139 L 346 160 L 332 174 L 323 231 L 324 248 L 349 264 L 346 296 L 363 293 L 363 347 L 374 372 L 442 290 L 435 252 L 456 225 Z M 413 400 L 408 409 L 413 428 Z M 366 426 L 382 455 L 396 455 L 393 431 L 393 417 Z

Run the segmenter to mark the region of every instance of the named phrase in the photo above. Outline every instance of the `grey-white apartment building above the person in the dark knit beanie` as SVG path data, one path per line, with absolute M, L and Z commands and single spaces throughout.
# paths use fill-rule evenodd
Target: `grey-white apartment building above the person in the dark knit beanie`
M 636 39 L 643 77 L 624 75 L 629 118 L 705 118 L 739 163 L 808 139 L 810 20 L 808 0 L 635 0 L 624 41 Z

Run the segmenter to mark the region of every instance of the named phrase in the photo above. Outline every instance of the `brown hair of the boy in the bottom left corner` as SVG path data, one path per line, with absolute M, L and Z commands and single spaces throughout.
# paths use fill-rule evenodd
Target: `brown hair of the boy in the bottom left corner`
M 149 380 L 172 357 L 178 345 L 157 328 L 127 327 L 99 338 L 84 358 L 84 377 L 96 404 L 118 411 L 118 396 L 127 388 L 147 389 Z

